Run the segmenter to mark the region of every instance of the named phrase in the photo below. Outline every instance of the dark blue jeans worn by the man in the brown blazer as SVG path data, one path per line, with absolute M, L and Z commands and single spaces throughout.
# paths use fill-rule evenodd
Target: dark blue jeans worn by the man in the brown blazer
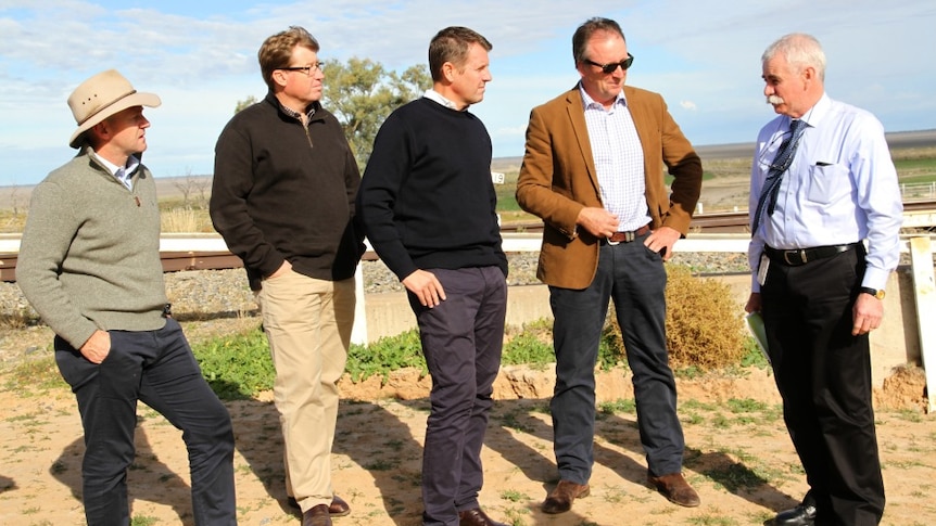
M 564 480 L 587 484 L 592 476 L 595 362 L 610 299 L 633 372 L 637 428 L 649 472 L 682 471 L 685 442 L 666 341 L 667 273 L 660 255 L 644 246 L 645 239 L 603 244 L 587 288 L 549 287 L 556 350 L 553 449 Z

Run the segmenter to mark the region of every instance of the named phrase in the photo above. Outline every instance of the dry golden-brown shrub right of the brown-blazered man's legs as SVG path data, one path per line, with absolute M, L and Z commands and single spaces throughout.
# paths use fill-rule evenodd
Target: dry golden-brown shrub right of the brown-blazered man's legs
M 699 278 L 684 266 L 667 266 L 667 345 L 676 368 L 719 369 L 745 354 L 743 309 L 731 287 Z

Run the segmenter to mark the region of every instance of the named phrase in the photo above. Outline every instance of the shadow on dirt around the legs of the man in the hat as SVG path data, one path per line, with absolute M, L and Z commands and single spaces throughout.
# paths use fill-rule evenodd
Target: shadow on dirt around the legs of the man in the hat
M 179 524 L 194 525 L 191 487 L 153 453 L 147 431 L 141 426 L 144 419 L 137 418 L 134 435 L 136 457 L 127 470 L 127 501 L 130 517 L 134 517 L 134 501 L 144 500 L 168 505 L 179 516 Z M 179 446 L 184 447 L 181 439 Z M 62 454 L 49 466 L 49 473 L 67 487 L 72 497 L 81 502 L 81 459 L 85 457 L 85 438 L 79 436 L 62 450 Z

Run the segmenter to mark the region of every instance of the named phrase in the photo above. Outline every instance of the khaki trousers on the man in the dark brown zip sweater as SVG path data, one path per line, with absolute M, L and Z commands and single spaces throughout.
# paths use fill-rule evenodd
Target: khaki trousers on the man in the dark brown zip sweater
M 337 383 L 354 323 L 354 280 L 288 272 L 256 293 L 276 368 L 274 400 L 283 438 L 286 490 L 305 512 L 330 504 Z

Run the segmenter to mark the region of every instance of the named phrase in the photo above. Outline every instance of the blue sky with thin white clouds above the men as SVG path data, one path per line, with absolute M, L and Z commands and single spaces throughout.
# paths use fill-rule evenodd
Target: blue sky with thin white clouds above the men
M 495 157 L 520 156 L 530 110 L 577 81 L 571 35 L 596 15 L 624 30 L 636 57 L 628 84 L 660 92 L 697 145 L 752 141 L 772 118 L 760 55 L 792 31 L 822 42 L 830 95 L 887 131 L 936 128 L 932 0 L 0 0 L 0 185 L 35 184 L 74 155 L 67 97 L 109 68 L 163 100 L 147 110 L 156 176 L 211 174 L 237 102 L 266 92 L 261 42 L 290 25 L 316 36 L 321 59 L 399 70 L 425 63 L 442 27 L 476 29 L 494 44 L 494 80 L 472 112 Z

